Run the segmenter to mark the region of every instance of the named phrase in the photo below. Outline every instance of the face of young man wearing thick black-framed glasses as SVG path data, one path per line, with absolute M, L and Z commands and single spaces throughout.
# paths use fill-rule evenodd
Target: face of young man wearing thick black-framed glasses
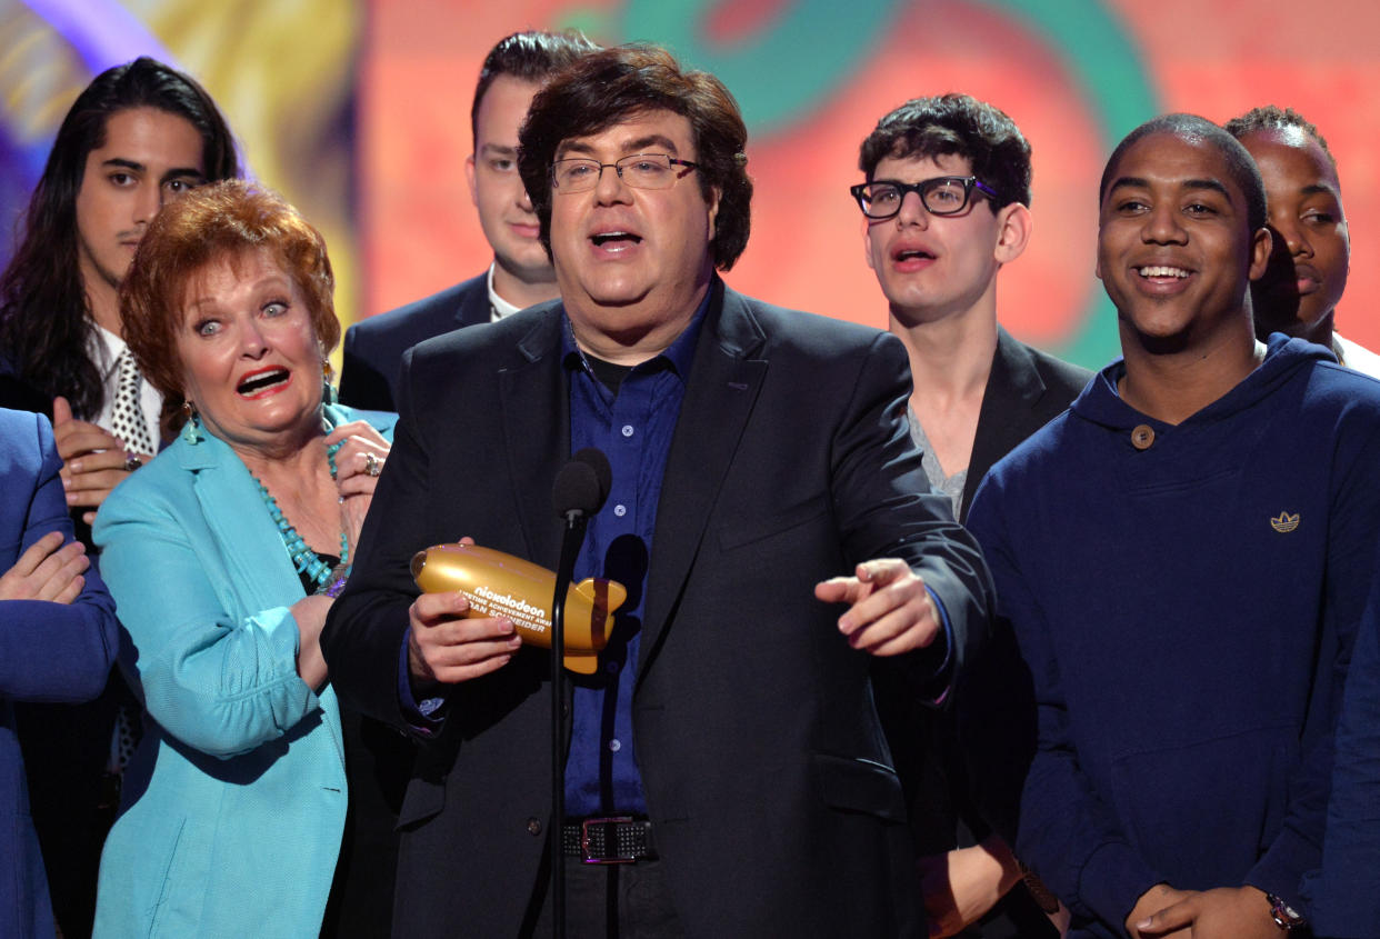
M 936 177 L 966 177 L 972 164 L 952 153 L 938 157 L 886 157 L 876 164 L 872 181 L 923 182 Z M 1020 204 L 992 211 L 974 189 L 956 215 L 931 215 L 918 192 L 905 193 L 901 211 L 883 221 L 862 220 L 867 264 L 876 273 L 891 316 L 903 326 L 960 315 L 985 301 L 995 315 L 996 272 L 1025 247 L 1013 240 L 1007 221 L 1024 215 Z

